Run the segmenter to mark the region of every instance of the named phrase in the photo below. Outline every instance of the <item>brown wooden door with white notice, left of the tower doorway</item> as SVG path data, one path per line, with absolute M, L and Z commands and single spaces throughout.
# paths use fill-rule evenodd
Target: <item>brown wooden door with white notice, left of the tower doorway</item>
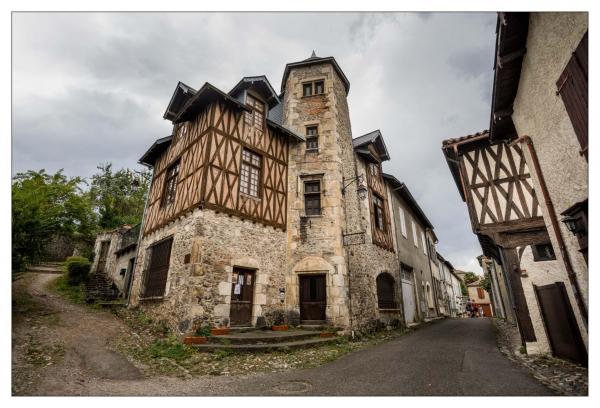
M 254 299 L 254 271 L 234 268 L 231 279 L 231 305 L 229 321 L 231 326 L 249 326 L 252 323 L 252 302 Z

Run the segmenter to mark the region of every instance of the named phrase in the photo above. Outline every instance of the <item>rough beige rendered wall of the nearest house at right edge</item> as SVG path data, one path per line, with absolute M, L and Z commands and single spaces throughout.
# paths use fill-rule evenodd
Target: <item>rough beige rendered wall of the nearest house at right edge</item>
M 587 13 L 531 13 L 527 54 L 523 61 L 519 91 L 514 102 L 512 118 L 517 133 L 528 135 L 533 140 L 557 215 L 588 197 L 587 161 L 579 154 L 580 146 L 573 125 L 560 95 L 556 95 L 556 81 L 587 29 Z M 529 167 L 534 169 L 528 150 L 524 148 L 524 151 Z M 532 179 L 536 191 L 541 191 L 537 174 L 533 170 Z M 539 197 L 558 264 L 561 265 L 562 274 L 566 277 L 556 235 L 541 193 Z M 564 238 L 582 290 L 584 303 L 587 305 L 589 290 L 587 264 L 579 253 L 576 237 L 562 222 L 559 224 L 560 233 Z M 568 282 L 566 287 L 584 342 L 587 344 L 587 330 L 577 307 L 573 289 Z

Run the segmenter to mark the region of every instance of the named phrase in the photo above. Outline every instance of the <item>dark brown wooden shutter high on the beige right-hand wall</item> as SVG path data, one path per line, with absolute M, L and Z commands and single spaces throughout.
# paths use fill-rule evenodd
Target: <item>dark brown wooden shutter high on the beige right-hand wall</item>
M 575 135 L 581 146 L 580 153 L 588 159 L 588 40 L 583 36 L 563 73 L 556 81 Z

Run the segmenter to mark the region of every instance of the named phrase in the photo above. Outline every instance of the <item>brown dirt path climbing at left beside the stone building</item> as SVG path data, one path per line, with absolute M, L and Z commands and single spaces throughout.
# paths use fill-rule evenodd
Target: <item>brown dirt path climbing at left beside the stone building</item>
M 108 311 L 54 294 L 48 284 L 57 277 L 27 273 L 13 282 L 13 395 L 226 395 L 249 379 L 144 375 L 139 362 L 113 347 L 118 337 L 136 334 Z

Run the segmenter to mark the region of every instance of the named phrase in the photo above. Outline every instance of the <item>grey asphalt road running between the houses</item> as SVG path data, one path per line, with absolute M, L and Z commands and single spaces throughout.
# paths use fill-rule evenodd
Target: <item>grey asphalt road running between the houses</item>
M 239 381 L 243 395 L 552 395 L 500 353 L 489 319 L 449 319 L 317 368 Z

